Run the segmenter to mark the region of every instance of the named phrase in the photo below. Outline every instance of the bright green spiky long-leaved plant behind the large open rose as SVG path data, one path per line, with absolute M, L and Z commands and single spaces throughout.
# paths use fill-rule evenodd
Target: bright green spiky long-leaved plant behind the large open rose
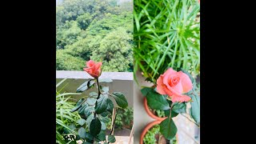
M 200 67 L 200 5 L 197 0 L 134 0 L 134 74 L 155 82 L 168 67 Z

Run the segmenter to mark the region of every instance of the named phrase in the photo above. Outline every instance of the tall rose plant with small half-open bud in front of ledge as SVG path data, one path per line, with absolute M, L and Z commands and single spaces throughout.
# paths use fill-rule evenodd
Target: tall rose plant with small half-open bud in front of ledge
M 71 112 L 78 111 L 81 119 L 78 120 L 78 136 L 76 140 L 82 140 L 83 144 L 94 144 L 98 142 L 114 143 L 115 138 L 112 134 L 114 130 L 114 122 L 110 134 L 106 134 L 106 124 L 110 122 L 109 114 L 112 114 L 114 109 L 125 109 L 128 106 L 126 97 L 121 92 L 109 93 L 108 86 L 100 86 L 100 82 L 113 82 L 111 79 L 99 79 L 102 74 L 102 62 L 94 62 L 92 60 L 86 62 L 86 71 L 92 79 L 82 83 L 78 87 L 77 92 L 82 93 L 93 86 L 97 86 L 97 92 L 91 92 L 89 96 L 81 98 L 74 106 Z M 109 97 L 114 98 L 118 107 L 114 107 L 114 103 Z M 114 120 L 116 115 L 114 116 Z M 107 135 L 107 138 L 106 138 Z

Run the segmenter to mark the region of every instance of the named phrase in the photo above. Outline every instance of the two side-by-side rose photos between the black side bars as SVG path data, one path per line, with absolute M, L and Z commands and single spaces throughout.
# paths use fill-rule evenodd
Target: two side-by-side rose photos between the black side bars
M 199 144 L 200 1 L 56 0 L 56 143 Z

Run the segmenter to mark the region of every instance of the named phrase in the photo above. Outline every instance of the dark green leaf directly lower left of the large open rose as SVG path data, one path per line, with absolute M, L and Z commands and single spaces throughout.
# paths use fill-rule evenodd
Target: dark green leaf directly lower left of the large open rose
M 169 110 L 170 106 L 167 102 L 166 98 L 163 95 L 156 93 L 155 91 L 151 91 L 146 95 L 146 101 L 148 106 L 154 110 Z

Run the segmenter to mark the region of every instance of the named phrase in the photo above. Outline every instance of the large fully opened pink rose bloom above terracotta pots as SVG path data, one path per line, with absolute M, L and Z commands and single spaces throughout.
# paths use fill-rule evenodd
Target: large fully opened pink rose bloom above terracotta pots
M 191 98 L 184 93 L 192 90 L 192 82 L 187 74 L 170 68 L 158 78 L 157 90 L 159 94 L 167 94 L 172 102 L 188 102 Z

